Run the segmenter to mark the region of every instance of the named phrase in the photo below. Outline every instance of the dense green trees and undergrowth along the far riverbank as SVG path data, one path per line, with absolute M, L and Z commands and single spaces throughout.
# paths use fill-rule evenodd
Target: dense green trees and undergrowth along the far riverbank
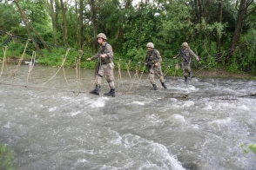
M 81 67 L 98 51 L 96 36 L 108 37 L 121 67 L 143 62 L 145 44 L 153 42 L 169 74 L 172 57 L 188 42 L 200 57 L 192 68 L 226 69 L 256 75 L 256 4 L 253 0 L 13 0 L 0 1 L 0 44 L 6 57 L 37 51 L 37 61 L 73 67 L 83 49 Z M 0 57 L 3 57 L 1 55 Z

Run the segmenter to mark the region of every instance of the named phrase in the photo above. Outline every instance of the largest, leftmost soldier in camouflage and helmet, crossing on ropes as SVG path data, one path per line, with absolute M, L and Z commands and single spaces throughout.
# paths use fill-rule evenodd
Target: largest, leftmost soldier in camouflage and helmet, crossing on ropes
M 91 58 L 87 58 L 88 61 L 98 59 L 97 67 L 95 69 L 95 84 L 96 87 L 94 90 L 90 91 L 90 94 L 99 95 L 99 88 L 101 84 L 101 79 L 103 75 L 106 75 L 106 80 L 111 88 L 109 93 L 104 95 L 115 96 L 115 83 L 114 83 L 114 63 L 113 63 L 113 51 L 109 43 L 106 42 L 107 38 L 103 33 L 99 33 L 97 36 L 98 43 L 100 48 L 98 53 Z

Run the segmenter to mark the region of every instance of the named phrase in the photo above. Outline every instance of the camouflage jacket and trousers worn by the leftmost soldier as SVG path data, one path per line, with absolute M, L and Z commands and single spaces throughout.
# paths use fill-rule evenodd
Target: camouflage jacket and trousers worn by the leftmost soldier
M 99 55 L 105 54 L 106 56 L 100 57 Z M 109 83 L 110 88 L 115 88 L 114 83 L 114 63 L 112 61 L 113 58 L 113 51 L 112 47 L 109 43 L 103 42 L 99 48 L 98 54 L 91 57 L 91 60 L 98 59 L 97 68 L 95 70 L 95 83 L 96 85 L 100 86 L 102 77 L 104 74 L 106 75 L 106 81 Z

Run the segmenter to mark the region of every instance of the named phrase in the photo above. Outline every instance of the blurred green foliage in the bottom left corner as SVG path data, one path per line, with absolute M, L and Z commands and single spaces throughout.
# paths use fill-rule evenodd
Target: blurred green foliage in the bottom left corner
M 14 163 L 13 151 L 10 148 L 0 144 L 0 169 L 14 170 L 17 169 Z

